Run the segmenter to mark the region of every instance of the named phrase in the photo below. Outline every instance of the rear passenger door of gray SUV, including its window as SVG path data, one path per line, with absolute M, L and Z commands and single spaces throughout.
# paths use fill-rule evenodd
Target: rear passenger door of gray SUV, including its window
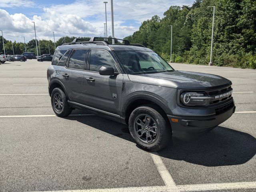
M 84 70 L 88 50 L 72 50 L 66 66 L 61 70 L 62 83 L 70 101 L 84 103 Z

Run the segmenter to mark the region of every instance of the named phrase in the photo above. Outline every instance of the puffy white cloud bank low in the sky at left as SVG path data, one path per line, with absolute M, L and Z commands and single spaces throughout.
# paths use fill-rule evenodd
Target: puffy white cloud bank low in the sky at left
M 1 18 L 4 18 L 2 20 Z M 1 29 L 4 32 L 4 38 L 16 41 L 22 41 L 25 36 L 26 40 L 34 38 L 34 24 L 36 25 L 36 35 L 42 39 L 53 39 L 52 31 L 55 32 L 56 39 L 61 36 L 93 36 L 100 32 L 90 24 L 90 22 L 82 18 L 68 14 L 65 16 L 44 18 L 33 16 L 32 19 L 24 14 L 9 14 L 5 10 L 0 9 Z M 48 37 L 48 38 L 47 38 Z

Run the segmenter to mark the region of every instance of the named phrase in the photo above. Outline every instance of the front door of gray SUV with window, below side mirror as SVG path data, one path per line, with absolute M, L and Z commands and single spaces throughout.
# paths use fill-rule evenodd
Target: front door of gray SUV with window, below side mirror
M 92 106 L 120 114 L 123 74 L 103 76 L 99 74 L 102 66 L 112 66 L 118 72 L 116 63 L 106 50 L 90 50 L 88 67 L 84 74 L 84 102 Z

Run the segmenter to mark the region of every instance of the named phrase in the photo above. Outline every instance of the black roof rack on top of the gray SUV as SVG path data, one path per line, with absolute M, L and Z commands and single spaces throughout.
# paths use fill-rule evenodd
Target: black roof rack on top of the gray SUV
M 96 39 L 114 39 L 114 40 L 121 40 L 124 44 L 115 44 L 115 45 L 130 45 L 130 46 L 138 46 L 138 47 L 145 47 L 142 44 L 130 44 L 128 40 L 125 39 L 118 39 L 118 38 L 110 38 L 110 37 L 92 37 L 89 41 L 78 41 L 80 38 L 74 38 L 71 43 L 64 43 L 62 45 L 73 45 L 73 44 L 96 44 L 96 45 L 105 45 L 109 46 L 109 42 L 106 40 L 96 40 Z

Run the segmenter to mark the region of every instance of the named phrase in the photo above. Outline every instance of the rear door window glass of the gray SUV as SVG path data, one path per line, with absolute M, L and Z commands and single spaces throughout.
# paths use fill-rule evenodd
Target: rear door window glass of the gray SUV
M 68 68 L 84 69 L 87 52 L 88 50 L 74 50 L 70 56 Z

